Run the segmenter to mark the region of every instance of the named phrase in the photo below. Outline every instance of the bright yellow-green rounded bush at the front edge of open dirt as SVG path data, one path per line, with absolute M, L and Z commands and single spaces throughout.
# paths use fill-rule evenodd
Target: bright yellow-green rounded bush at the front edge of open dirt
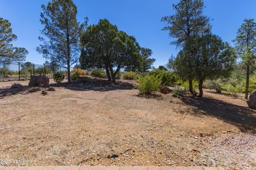
M 154 75 L 146 75 L 137 79 L 138 89 L 141 94 L 151 94 L 159 89 L 161 85 L 161 78 L 155 77 Z

